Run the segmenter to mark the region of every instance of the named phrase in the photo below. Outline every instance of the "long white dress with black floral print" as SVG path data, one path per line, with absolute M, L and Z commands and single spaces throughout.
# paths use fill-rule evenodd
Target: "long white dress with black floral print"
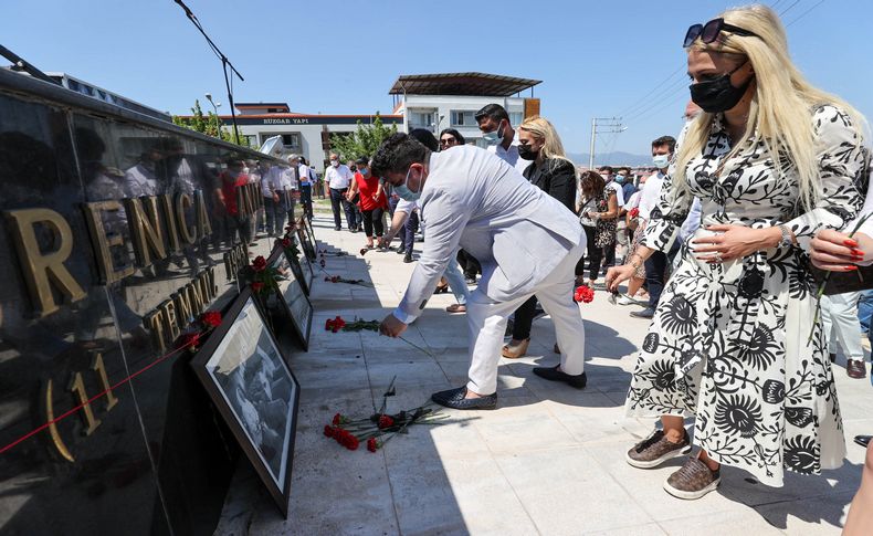
M 818 474 L 840 466 L 845 454 L 807 252 L 817 231 L 843 229 L 861 208 L 867 153 L 840 109 L 820 106 L 812 120 L 821 177 L 813 210 L 801 213 L 796 174 L 789 165 L 779 177 L 757 136 L 716 176 L 730 153 L 716 118 L 702 155 L 688 164 L 690 192 L 674 196 L 667 177 L 642 239 L 669 251 L 695 196 L 703 225 L 692 240 L 711 235 L 705 227 L 716 223 L 786 224 L 797 237 L 797 246 L 723 264 L 698 261 L 683 245 L 625 403 L 630 416 L 696 416 L 695 443 L 772 486 L 782 485 L 783 467 Z

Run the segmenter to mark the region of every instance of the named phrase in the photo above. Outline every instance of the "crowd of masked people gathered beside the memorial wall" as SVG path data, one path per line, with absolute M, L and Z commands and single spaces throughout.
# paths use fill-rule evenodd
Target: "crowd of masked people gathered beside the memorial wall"
M 475 115 L 485 150 L 451 129 L 397 134 L 358 162 L 364 172 L 350 176 L 337 162 L 330 175 L 339 190 L 357 183 L 345 198 L 367 196 L 367 218 L 387 209 L 390 224 L 367 224 L 367 246 L 388 249 L 399 237 L 397 251 L 414 261 L 414 227 L 423 227 L 406 295 L 381 333 L 400 336 L 446 288 L 457 299 L 449 312 L 466 313 L 469 382 L 433 393 L 436 403 L 496 408 L 499 356 L 525 355 L 543 313 L 560 364 L 534 372 L 583 388 L 574 287 L 606 292 L 617 307 L 639 305 L 631 316 L 651 324 L 625 410 L 660 423 L 625 460 L 655 467 L 687 456 L 664 488 L 694 500 L 718 486 L 722 465 L 781 486 L 786 470 L 842 464 L 831 364 L 842 346 L 848 374 L 866 375 L 861 329 L 870 320 L 859 320 L 859 302 L 869 318 L 873 296 L 860 277 L 851 293 L 822 287 L 819 301 L 819 291 L 830 281 L 821 274 L 851 278 L 873 263 L 865 220 L 873 200 L 865 119 L 804 80 L 771 9 L 737 8 L 694 24 L 683 46 L 686 124 L 676 138 L 651 143 L 649 172 L 577 170 L 546 118 L 514 127 L 492 104 Z M 871 479 L 869 451 L 846 534 L 872 523 Z

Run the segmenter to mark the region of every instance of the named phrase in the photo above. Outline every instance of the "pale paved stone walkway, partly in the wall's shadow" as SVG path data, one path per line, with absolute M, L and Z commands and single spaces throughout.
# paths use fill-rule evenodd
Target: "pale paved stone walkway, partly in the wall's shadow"
M 288 518 L 281 518 L 243 459 L 217 534 L 840 534 L 863 465 L 854 443 L 840 470 L 790 474 L 783 488 L 726 467 L 719 490 L 695 502 L 661 487 L 682 460 L 648 471 L 624 462 L 625 450 L 652 428 L 622 410 L 648 323 L 629 317 L 630 307 L 611 305 L 602 292 L 583 307 L 585 390 L 532 374 L 535 365 L 558 362 L 551 323 L 543 318 L 534 324 L 532 355 L 501 361 L 496 411 L 449 411 L 448 423 L 414 427 L 376 454 L 340 448 L 322 435 L 324 424 L 337 411 L 366 416 L 395 375 L 390 411 L 463 385 L 466 323 L 444 313 L 451 294 L 434 296 L 407 332 L 432 356 L 372 333 L 325 332 L 325 319 L 336 315 L 381 319 L 399 302 L 414 264 L 395 252 L 361 256 L 362 233 L 335 232 L 324 217 L 314 223 L 319 242 L 351 254 L 328 258 L 327 271 L 372 281 L 375 288 L 316 282 L 311 350 L 292 358 L 303 393 Z M 873 431 L 873 391 L 867 380 L 849 379 L 844 362 L 840 357 L 834 371 L 851 438 Z

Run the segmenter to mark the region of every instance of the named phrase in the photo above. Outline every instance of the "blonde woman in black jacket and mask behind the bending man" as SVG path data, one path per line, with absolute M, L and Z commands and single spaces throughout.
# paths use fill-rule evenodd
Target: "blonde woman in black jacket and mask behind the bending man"
M 574 212 L 576 166 L 565 156 L 564 145 L 551 123 L 538 116 L 528 117 L 518 127 L 518 156 L 530 160 L 524 171 L 525 178 Z M 567 296 L 567 299 L 570 298 L 571 296 Z M 527 353 L 536 304 L 536 296 L 532 296 L 515 311 L 513 339 L 504 345 L 503 357 L 514 359 Z

